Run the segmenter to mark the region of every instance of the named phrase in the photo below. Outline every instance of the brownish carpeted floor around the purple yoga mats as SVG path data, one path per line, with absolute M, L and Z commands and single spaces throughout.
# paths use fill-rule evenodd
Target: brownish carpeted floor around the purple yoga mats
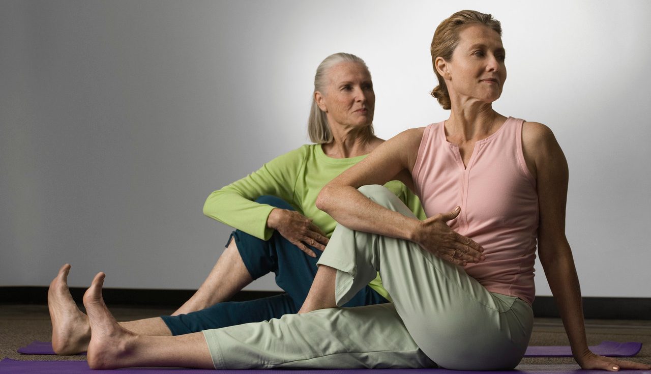
M 110 306 L 109 306 L 110 307 Z M 131 321 L 171 313 L 172 309 L 111 308 L 118 321 Z M 651 321 L 588 320 L 588 343 L 596 345 L 604 340 L 639 341 L 642 351 L 631 360 L 651 364 Z M 85 360 L 85 356 L 23 355 L 16 352 L 31 341 L 49 341 L 51 324 L 47 306 L 0 305 L 0 359 L 16 360 Z M 536 319 L 531 345 L 568 345 L 559 319 Z M 574 364 L 572 358 L 524 358 L 528 364 Z

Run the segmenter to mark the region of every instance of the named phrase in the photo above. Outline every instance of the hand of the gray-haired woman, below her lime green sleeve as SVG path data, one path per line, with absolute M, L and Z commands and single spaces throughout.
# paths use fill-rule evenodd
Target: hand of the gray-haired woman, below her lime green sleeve
M 283 235 L 290 243 L 297 246 L 301 251 L 310 257 L 316 257 L 316 253 L 307 246 L 317 250 L 325 250 L 328 238 L 310 218 L 303 216 L 295 210 L 276 208 L 271 210 L 267 218 L 267 226 L 275 229 Z

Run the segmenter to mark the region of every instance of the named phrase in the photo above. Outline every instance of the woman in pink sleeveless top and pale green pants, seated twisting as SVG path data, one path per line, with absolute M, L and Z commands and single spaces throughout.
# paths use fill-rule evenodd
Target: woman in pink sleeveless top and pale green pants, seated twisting
M 340 225 L 303 314 L 176 339 L 135 336 L 105 308 L 100 273 L 84 298 L 90 366 L 512 369 L 531 335 L 537 247 L 578 364 L 651 369 L 588 349 L 564 233 L 565 158 L 549 128 L 492 108 L 506 79 L 499 22 L 452 14 L 436 29 L 432 63 L 449 119 L 378 145 L 322 190 L 317 206 Z M 393 179 L 417 192 L 426 220 L 380 186 Z M 333 308 L 377 271 L 393 303 Z

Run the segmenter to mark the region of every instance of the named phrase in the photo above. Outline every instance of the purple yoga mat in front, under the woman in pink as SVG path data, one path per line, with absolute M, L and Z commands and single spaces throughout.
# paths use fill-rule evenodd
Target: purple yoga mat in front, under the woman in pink
M 0 361 L 0 374 L 603 374 L 603 370 L 579 370 L 577 365 L 523 365 L 516 371 L 466 371 L 447 369 L 334 369 L 334 370 L 207 370 L 207 369 L 159 369 L 139 367 L 135 369 L 91 370 L 83 361 L 18 361 L 5 358 Z M 648 370 L 620 370 L 620 374 L 651 374 Z

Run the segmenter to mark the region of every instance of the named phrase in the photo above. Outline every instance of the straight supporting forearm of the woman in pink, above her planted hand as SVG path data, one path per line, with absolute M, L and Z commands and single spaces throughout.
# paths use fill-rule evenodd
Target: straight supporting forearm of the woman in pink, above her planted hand
M 542 260 L 542 259 L 541 259 Z M 565 327 L 572 353 L 580 358 L 587 349 L 581 287 L 574 266 L 572 252 L 568 251 L 543 263 L 549 287 L 554 295 Z

